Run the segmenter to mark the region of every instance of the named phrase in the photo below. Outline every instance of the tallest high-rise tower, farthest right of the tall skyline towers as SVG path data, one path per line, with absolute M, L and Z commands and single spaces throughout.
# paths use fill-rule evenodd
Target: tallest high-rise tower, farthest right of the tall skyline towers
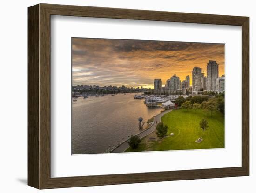
M 209 60 L 207 63 L 207 84 L 206 90 L 217 91 L 217 78 L 219 77 L 219 64 Z

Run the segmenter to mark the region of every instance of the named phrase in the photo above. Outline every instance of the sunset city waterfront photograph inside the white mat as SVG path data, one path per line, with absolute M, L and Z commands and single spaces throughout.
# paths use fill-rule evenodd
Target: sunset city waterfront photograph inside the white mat
M 225 148 L 225 44 L 71 38 L 72 155 Z

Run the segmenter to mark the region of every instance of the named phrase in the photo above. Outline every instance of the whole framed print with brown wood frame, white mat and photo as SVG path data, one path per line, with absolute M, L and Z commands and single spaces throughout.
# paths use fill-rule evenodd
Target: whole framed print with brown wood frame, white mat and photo
M 28 8 L 28 185 L 249 175 L 249 18 Z

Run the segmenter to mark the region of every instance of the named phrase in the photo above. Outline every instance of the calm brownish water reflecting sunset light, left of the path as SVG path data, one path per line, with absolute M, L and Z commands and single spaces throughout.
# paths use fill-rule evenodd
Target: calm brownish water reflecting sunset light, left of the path
M 147 122 L 162 110 L 149 108 L 133 96 L 79 97 L 72 102 L 72 154 L 104 153 L 139 132 L 139 117 Z

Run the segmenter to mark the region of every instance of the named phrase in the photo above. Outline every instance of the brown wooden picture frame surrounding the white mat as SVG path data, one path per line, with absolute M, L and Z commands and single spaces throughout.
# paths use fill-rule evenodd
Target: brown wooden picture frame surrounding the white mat
M 51 15 L 242 26 L 242 167 L 51 178 Z M 249 175 L 249 17 L 53 4 L 38 4 L 28 8 L 29 186 L 47 189 L 247 175 Z

